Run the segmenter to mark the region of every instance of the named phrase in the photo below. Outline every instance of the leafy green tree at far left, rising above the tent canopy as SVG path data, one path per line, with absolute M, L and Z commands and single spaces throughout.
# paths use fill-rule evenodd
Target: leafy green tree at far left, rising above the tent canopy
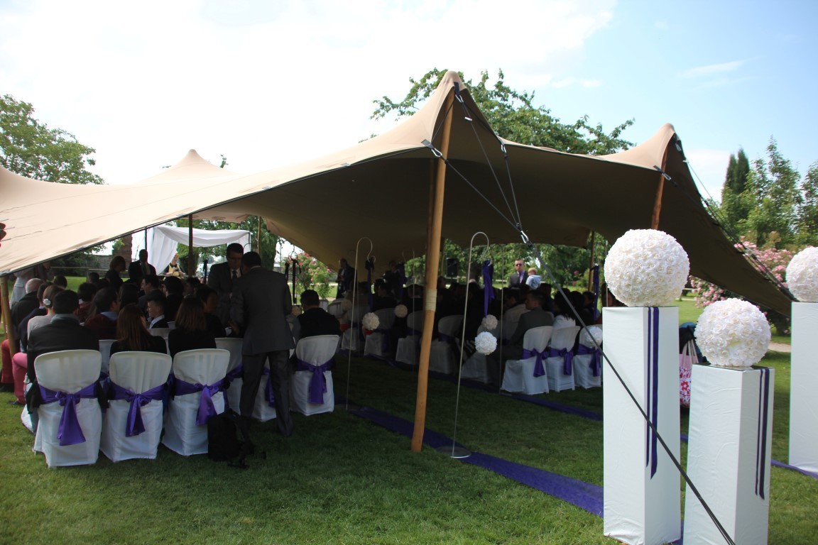
M 50 128 L 34 118 L 34 106 L 0 97 L 0 164 L 11 172 L 44 181 L 102 184 L 88 172 L 96 150 L 80 144 L 61 128 Z

